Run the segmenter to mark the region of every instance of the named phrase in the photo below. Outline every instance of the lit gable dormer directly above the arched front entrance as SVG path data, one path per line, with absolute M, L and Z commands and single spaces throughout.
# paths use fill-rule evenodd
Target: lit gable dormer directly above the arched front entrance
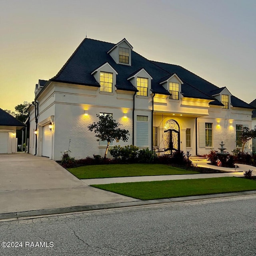
M 181 85 L 183 84 L 183 82 L 176 73 L 163 77 L 160 80 L 159 84 L 162 85 L 168 92 L 170 92 L 170 94 L 172 94 L 169 97 L 170 99 L 180 99 Z

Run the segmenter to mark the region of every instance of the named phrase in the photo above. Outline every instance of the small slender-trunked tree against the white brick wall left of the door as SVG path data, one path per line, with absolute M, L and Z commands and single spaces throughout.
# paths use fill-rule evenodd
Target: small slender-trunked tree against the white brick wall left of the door
M 110 142 L 113 142 L 114 140 L 123 140 L 127 141 L 129 131 L 125 129 L 120 129 L 119 126 L 122 124 L 119 124 L 112 118 L 110 114 L 106 115 L 99 115 L 97 114 L 97 117 L 99 118 L 99 121 L 97 123 L 92 123 L 88 126 L 89 131 L 93 131 L 96 133 L 95 137 L 97 137 L 97 141 L 106 141 L 106 152 L 104 155 L 104 158 L 106 158 L 109 144 Z

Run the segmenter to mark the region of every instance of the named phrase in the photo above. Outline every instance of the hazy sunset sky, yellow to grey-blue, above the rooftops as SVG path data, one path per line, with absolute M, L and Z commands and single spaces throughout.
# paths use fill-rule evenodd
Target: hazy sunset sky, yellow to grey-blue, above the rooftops
M 32 102 L 86 33 L 256 98 L 255 0 L 0 0 L 0 108 Z

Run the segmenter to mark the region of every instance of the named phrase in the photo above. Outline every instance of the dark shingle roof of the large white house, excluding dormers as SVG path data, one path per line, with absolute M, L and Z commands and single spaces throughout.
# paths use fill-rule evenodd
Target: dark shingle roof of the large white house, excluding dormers
M 102 66 L 102 64 L 108 62 L 118 72 L 116 76 L 116 88 L 118 89 L 135 92 L 137 89 L 127 78 L 131 77 L 132 74 L 135 74 L 141 68 L 144 68 L 153 78 L 151 91 L 153 93 L 168 95 L 169 92 L 159 83 L 176 73 L 182 82 L 184 82 L 181 86 L 181 92 L 185 97 L 214 100 L 210 104 L 223 106 L 221 102 L 212 97 L 212 91 L 218 91 L 222 88 L 211 84 L 181 66 L 150 61 L 133 50 L 131 52 L 131 66 L 116 64 L 107 53 L 114 46 L 115 44 L 109 42 L 85 38 L 58 74 L 51 80 L 99 87 L 100 85 L 91 73 Z M 242 100 L 234 97 L 231 100 L 231 104 L 241 108 L 251 107 Z

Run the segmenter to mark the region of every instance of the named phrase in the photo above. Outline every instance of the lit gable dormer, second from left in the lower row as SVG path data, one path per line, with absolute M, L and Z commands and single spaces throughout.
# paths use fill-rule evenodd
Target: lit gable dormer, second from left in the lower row
M 144 68 L 140 68 L 127 78 L 127 80 L 137 88 L 137 96 L 146 97 L 150 94 L 152 79 L 152 76 L 150 76 L 150 74 L 148 74 Z

